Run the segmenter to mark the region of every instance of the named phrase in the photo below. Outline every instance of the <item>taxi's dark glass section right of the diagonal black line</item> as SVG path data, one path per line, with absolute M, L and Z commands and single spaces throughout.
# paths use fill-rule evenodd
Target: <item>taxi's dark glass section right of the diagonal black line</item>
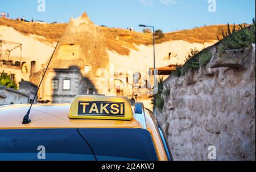
M 147 130 L 141 128 L 84 128 L 79 131 L 90 143 L 97 160 L 158 160 L 150 132 Z

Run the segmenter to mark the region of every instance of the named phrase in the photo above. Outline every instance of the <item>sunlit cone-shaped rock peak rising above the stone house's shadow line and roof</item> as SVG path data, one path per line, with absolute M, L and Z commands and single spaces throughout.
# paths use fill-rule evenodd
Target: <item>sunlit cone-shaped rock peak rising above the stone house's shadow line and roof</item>
M 100 28 L 84 13 L 79 18 L 72 18 L 69 21 L 51 67 L 77 66 L 83 73 L 85 66 L 90 66 L 92 74 L 96 75 L 98 68 L 108 68 L 109 57 L 106 49 Z

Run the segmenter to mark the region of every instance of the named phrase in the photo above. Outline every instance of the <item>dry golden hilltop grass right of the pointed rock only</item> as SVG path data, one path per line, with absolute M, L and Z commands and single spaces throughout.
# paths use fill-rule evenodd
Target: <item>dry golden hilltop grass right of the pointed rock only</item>
M 232 26 L 231 26 L 232 27 Z M 238 28 L 238 25 L 236 25 Z M 119 54 L 129 54 L 129 49 L 136 50 L 136 45 L 151 45 L 152 35 L 150 33 L 131 32 L 126 29 L 101 27 L 106 37 L 106 42 L 110 50 L 117 51 Z M 184 40 L 190 43 L 212 42 L 217 40 L 217 36 L 222 39 L 222 31 L 228 30 L 227 25 L 210 25 L 206 27 L 194 28 L 171 33 L 165 33 L 163 38 L 156 40 L 156 44 L 171 40 Z

